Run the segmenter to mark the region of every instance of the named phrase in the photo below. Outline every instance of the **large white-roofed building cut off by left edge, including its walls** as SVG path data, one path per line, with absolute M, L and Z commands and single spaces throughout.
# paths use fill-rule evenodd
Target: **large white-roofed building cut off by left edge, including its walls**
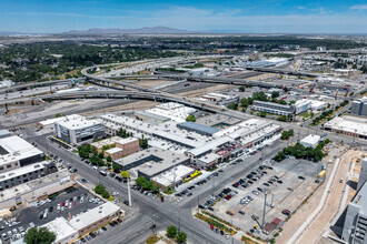
M 0 139 L 0 173 L 43 161 L 44 154 L 18 135 Z

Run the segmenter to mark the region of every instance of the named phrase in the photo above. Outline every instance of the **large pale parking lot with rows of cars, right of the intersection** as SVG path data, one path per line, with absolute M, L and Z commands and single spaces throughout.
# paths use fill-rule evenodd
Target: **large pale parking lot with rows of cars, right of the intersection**
M 320 170 L 320 164 L 296 159 L 269 167 L 256 167 L 217 191 L 215 199 L 200 202 L 200 209 L 209 210 L 244 231 L 256 231 L 254 226 L 262 221 L 265 189 L 269 190 L 266 223 L 276 217 L 284 221 L 318 186 L 317 174 Z

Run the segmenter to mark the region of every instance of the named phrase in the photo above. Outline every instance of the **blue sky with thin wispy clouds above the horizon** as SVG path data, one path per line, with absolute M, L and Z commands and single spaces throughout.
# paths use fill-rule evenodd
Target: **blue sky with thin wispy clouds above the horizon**
M 367 33 L 366 0 L 1 0 L 0 31 L 165 26 L 194 31 Z

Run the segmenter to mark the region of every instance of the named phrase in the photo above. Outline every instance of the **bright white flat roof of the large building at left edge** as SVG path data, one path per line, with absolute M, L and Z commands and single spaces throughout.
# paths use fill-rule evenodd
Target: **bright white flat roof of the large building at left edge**
M 0 164 L 43 154 L 43 152 L 18 135 L 0 139 Z

